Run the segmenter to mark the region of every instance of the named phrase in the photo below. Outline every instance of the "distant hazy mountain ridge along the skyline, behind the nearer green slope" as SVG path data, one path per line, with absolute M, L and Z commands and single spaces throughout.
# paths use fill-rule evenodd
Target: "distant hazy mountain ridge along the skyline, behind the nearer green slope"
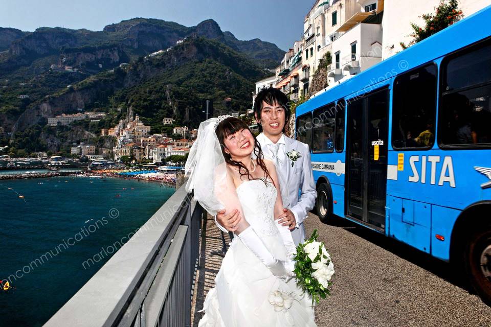
M 51 64 L 63 64 L 88 73 L 118 66 L 140 56 L 165 50 L 186 37 L 216 39 L 243 53 L 260 66 L 273 68 L 284 52 L 270 42 L 259 39 L 241 41 L 230 32 L 222 32 L 208 19 L 197 26 L 185 27 L 175 22 L 151 18 L 133 18 L 106 26 L 102 31 L 64 28 L 38 28 L 32 33 L 0 29 L 0 79 L 32 77 Z M 50 56 L 49 60 L 40 60 Z

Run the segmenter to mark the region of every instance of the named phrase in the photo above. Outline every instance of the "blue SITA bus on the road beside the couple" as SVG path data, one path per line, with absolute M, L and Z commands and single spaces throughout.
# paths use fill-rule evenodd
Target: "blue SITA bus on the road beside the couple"
M 491 6 L 299 105 L 322 221 L 465 267 L 491 303 Z

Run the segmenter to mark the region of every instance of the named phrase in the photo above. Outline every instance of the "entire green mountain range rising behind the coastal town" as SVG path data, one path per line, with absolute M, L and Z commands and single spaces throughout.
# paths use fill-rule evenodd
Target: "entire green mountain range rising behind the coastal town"
M 273 43 L 222 32 L 212 19 L 186 27 L 133 18 L 102 31 L 0 28 L 0 126 L 13 132 L 0 146 L 58 151 L 128 113 L 140 113 L 156 132 L 169 115 L 193 126 L 204 99 L 224 111 L 249 107 L 253 83 L 283 55 Z M 48 117 L 80 108 L 104 110 L 108 118 L 75 124 L 73 135 L 66 134 L 70 127 L 45 126 Z

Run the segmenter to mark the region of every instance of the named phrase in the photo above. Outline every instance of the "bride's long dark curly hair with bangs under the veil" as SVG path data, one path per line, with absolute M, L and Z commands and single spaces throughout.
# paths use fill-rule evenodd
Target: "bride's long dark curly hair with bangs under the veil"
M 254 138 L 254 154 L 256 155 L 256 162 L 257 165 L 262 168 L 264 171 L 264 177 L 269 177 L 270 180 L 273 180 L 270 176 L 270 172 L 266 168 L 266 164 L 264 164 L 264 155 L 262 154 L 261 146 L 259 145 L 259 142 L 257 142 L 256 137 L 252 133 L 251 129 L 247 124 L 234 117 L 229 117 L 225 120 L 223 120 L 220 124 L 215 129 L 216 136 L 218 137 L 218 141 L 220 142 L 221 146 L 221 153 L 224 154 L 225 161 L 227 164 L 231 166 L 235 166 L 239 168 L 239 174 L 240 176 L 247 176 L 248 180 L 253 180 L 253 179 L 259 179 L 259 178 L 253 178 L 251 173 L 249 172 L 249 169 L 245 167 L 242 162 L 240 161 L 235 161 L 232 159 L 229 153 L 225 152 L 225 139 L 232 134 L 235 134 L 238 131 L 241 131 L 243 129 L 247 129 L 251 132 L 252 137 Z M 264 183 L 267 185 L 266 179 L 264 180 Z M 274 184 L 274 182 L 273 182 Z

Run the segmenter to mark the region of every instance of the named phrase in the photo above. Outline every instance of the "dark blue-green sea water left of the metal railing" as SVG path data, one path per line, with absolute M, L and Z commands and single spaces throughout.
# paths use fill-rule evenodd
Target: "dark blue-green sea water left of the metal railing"
M 0 181 L 0 279 L 15 287 L 0 290 L 0 326 L 48 321 L 110 254 L 83 262 L 142 226 L 174 192 L 119 178 Z

